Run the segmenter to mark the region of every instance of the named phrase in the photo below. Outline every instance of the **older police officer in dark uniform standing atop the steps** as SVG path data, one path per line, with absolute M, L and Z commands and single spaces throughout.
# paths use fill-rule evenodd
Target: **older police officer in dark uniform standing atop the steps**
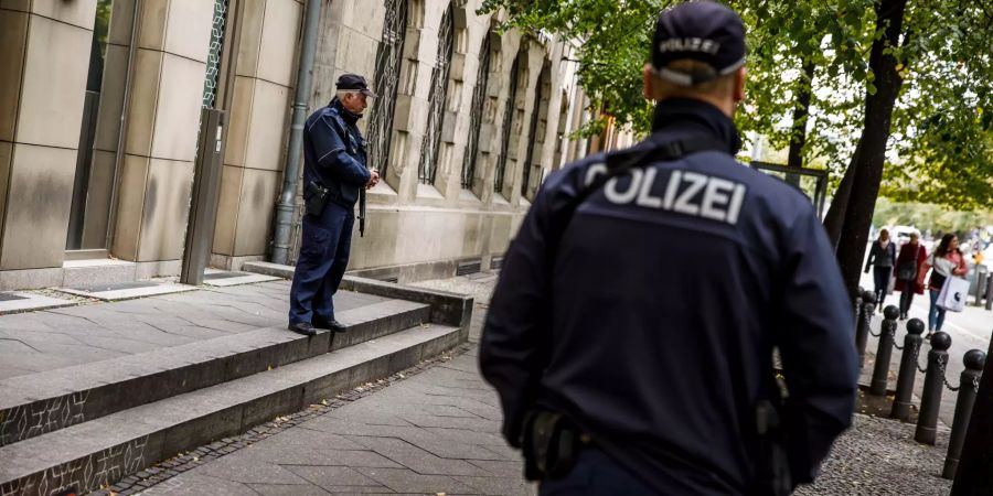
M 366 169 L 365 140 L 355 122 L 376 95 L 365 78 L 343 74 L 327 107 L 313 112 L 303 129 L 303 238 L 290 290 L 289 330 L 343 332 L 334 320 L 331 296 L 338 291 L 352 242 L 359 190 L 375 186 L 380 174 Z

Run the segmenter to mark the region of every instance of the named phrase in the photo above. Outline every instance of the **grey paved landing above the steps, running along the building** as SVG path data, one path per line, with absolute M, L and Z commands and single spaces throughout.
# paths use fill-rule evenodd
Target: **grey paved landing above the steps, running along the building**
M 0 381 L 11 377 L 286 325 L 289 281 L 0 315 Z M 344 311 L 386 299 L 350 291 Z

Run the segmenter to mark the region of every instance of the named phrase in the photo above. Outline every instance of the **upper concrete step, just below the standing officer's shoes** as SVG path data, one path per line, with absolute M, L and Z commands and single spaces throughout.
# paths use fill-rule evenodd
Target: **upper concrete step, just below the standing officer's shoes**
M 0 446 L 235 380 L 431 322 L 425 303 L 340 312 L 348 332 L 307 337 L 266 327 L 0 381 Z M 0 492 L 0 494 L 4 494 Z

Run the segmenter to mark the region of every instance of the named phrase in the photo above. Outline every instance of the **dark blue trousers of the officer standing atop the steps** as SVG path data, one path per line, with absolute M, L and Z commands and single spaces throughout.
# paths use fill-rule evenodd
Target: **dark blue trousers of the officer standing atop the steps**
M 290 289 L 290 324 L 313 322 L 314 317 L 334 319 L 331 296 L 349 265 L 354 222 L 351 208 L 330 202 L 320 217 L 303 216 L 300 258 Z

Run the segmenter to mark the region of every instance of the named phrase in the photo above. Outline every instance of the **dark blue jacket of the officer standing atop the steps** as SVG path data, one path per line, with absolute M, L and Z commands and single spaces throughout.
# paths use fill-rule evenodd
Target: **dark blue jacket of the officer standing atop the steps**
M 335 98 L 307 118 L 303 133 L 303 182 L 317 181 L 330 190 L 330 201 L 355 206 L 359 188 L 371 176 L 365 168 L 365 140 L 355 114 Z

